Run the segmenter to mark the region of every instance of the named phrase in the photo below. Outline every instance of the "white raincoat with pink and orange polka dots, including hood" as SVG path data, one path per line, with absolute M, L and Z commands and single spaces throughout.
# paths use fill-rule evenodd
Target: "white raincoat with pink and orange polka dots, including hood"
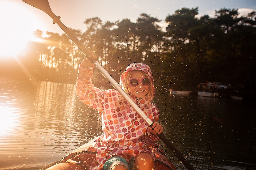
M 154 89 L 151 70 L 143 63 L 130 64 L 121 75 L 120 81 L 125 81 L 124 75 L 132 70 L 142 70 L 149 75 Z M 97 155 L 90 169 L 103 169 L 106 160 L 115 155 L 122 156 L 127 162 L 131 157 L 136 157 L 142 152 L 148 152 L 154 157 L 149 147 L 159 140 L 158 136 L 147 130 L 147 123 L 127 101 L 122 105 L 117 105 L 118 96 L 120 96 L 118 91 L 100 90 L 94 87 L 92 79 L 93 67 L 84 68 L 80 63 L 76 85 L 77 96 L 84 104 L 99 112 L 103 130 L 103 135 L 94 141 Z M 149 103 L 147 95 L 140 99 L 131 94 L 129 96 L 152 122 L 158 120 L 159 111 L 154 104 Z

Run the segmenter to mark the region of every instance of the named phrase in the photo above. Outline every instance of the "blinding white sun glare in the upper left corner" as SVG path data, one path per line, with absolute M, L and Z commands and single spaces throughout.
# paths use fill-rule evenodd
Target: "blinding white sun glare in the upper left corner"
M 38 26 L 36 15 L 27 10 L 27 4 L 17 0 L 0 1 L 1 40 L 0 58 L 15 57 L 24 50 L 28 41 L 33 41 L 33 31 Z

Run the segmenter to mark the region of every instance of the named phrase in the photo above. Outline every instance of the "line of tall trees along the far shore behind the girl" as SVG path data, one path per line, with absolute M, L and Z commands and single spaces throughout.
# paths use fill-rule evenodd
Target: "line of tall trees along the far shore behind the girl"
M 86 32 L 70 31 L 117 81 L 127 65 L 143 62 L 160 88 L 191 90 L 207 80 L 255 89 L 256 11 L 239 16 L 237 9 L 222 8 L 214 18 L 197 15 L 198 7 L 177 10 L 166 17 L 166 28 L 145 13 L 135 23 L 95 17 L 84 21 Z M 30 42 L 21 57 L 23 76 L 74 83 L 83 54 L 65 34 L 46 34 L 34 32 L 40 41 Z

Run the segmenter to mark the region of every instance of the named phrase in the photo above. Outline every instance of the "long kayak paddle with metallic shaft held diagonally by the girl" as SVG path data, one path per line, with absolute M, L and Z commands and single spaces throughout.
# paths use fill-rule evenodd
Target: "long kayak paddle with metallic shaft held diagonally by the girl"
M 48 0 L 22 0 L 23 2 L 44 11 L 52 19 L 53 23 L 57 23 L 59 27 L 66 33 L 66 35 L 77 45 L 83 54 L 87 52 L 82 43 L 67 29 L 67 27 L 59 20 L 60 16 L 56 16 L 49 5 Z M 86 55 L 85 55 L 86 56 Z M 135 109 L 135 111 L 143 118 L 143 120 L 152 128 L 153 122 L 145 115 L 145 113 L 134 103 L 134 101 L 126 94 L 125 91 L 118 85 L 118 83 L 111 77 L 111 75 L 101 66 L 101 64 L 95 59 L 91 59 L 94 66 L 101 72 L 101 74 L 112 84 L 112 86 L 127 100 L 127 102 Z M 192 165 L 184 158 L 184 156 L 173 146 L 173 144 L 165 137 L 163 133 L 157 134 L 158 137 L 165 143 L 165 145 L 177 156 L 177 158 L 187 167 L 189 170 L 194 170 Z

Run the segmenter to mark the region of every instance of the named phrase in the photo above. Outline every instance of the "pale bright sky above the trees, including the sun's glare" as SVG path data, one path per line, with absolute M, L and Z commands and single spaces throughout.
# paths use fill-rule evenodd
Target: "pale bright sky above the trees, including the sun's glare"
M 61 16 L 66 27 L 85 31 L 86 19 L 99 17 L 103 22 L 130 19 L 136 22 L 140 14 L 146 13 L 162 20 L 182 7 L 198 7 L 198 16 L 214 17 L 221 8 L 238 9 L 241 15 L 256 11 L 256 0 L 48 0 L 55 15 Z M 33 31 L 39 29 L 63 34 L 64 32 L 45 12 L 21 0 L 0 0 L 1 41 L 0 57 L 18 53 L 28 40 L 37 41 Z M 8 52 L 9 51 L 9 52 Z

